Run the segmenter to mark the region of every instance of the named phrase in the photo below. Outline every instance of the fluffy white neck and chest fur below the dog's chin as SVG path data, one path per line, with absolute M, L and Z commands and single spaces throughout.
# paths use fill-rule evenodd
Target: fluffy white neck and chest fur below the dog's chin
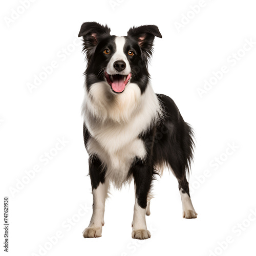
M 106 167 L 106 179 L 120 187 L 127 181 L 134 158 L 146 156 L 145 145 L 138 136 L 161 114 L 157 96 L 150 84 L 143 95 L 134 83 L 114 95 L 108 84 L 95 83 L 86 92 L 82 113 L 91 135 L 89 155 L 98 156 Z

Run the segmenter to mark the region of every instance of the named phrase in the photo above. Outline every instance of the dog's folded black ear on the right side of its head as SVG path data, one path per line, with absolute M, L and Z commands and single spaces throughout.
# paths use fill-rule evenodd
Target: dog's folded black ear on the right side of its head
M 155 36 L 162 38 L 159 29 L 155 25 L 145 25 L 140 27 L 133 27 L 127 32 L 128 36 L 134 37 L 140 48 L 147 53 L 147 57 L 152 55 L 152 47 Z

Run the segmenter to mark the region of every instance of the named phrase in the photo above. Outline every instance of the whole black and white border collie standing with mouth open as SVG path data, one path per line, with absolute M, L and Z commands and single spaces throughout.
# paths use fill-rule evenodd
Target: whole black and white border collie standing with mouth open
M 154 93 L 147 69 L 154 38 L 162 37 L 158 27 L 133 27 L 127 36 L 114 36 L 108 26 L 87 22 L 78 36 L 87 59 L 83 138 L 93 194 L 83 237 L 101 237 L 110 184 L 121 188 L 133 179 L 132 238 L 150 238 L 145 216 L 150 215 L 152 181 L 165 167 L 178 180 L 183 218 L 197 218 L 186 179 L 193 131 L 171 98 Z

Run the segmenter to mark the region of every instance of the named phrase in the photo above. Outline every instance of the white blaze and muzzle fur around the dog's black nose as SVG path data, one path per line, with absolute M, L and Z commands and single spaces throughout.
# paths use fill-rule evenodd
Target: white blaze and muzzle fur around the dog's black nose
M 123 52 L 124 44 L 125 44 L 125 38 L 123 36 L 117 36 L 115 38 L 115 44 L 116 44 L 116 51 L 112 58 L 110 59 L 110 62 L 108 63 L 108 66 L 106 67 L 106 72 L 109 74 L 122 74 L 122 75 L 128 75 L 131 72 L 131 67 L 129 64 L 129 61 L 127 60 L 126 55 Z M 114 69 L 114 62 L 117 60 L 123 60 L 126 64 L 126 68 L 122 72 L 117 72 Z

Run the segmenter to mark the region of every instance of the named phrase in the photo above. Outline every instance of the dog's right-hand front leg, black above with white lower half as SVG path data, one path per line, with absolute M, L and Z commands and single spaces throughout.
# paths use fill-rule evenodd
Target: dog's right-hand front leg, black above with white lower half
M 133 165 L 131 172 L 134 177 L 135 184 L 135 205 L 132 222 L 132 238 L 148 239 L 151 237 L 150 231 L 146 227 L 146 206 L 147 195 L 150 191 L 152 182 L 152 169 L 137 160 Z

